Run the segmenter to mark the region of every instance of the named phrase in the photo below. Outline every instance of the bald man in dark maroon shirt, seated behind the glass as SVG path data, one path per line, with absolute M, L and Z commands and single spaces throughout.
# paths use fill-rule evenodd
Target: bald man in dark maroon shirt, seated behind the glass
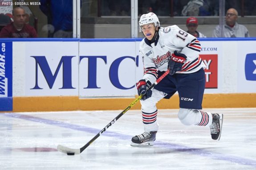
M 13 22 L 1 30 L 1 38 L 37 38 L 35 28 L 25 24 L 26 16 L 23 8 L 14 8 L 12 10 L 12 19 Z

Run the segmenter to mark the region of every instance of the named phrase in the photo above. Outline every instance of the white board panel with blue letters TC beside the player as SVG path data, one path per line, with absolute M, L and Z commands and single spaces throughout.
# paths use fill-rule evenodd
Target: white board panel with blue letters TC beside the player
M 80 42 L 79 96 L 137 95 L 136 75 L 143 75 L 135 42 Z

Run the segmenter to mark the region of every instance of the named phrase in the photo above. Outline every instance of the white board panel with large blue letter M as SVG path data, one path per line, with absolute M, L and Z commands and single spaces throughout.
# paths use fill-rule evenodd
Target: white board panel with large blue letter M
M 78 41 L 13 42 L 15 96 L 78 96 Z

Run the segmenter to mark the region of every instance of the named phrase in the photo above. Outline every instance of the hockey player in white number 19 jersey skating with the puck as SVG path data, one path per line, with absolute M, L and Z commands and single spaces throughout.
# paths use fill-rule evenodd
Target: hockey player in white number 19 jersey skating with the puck
M 184 125 L 209 126 L 211 138 L 219 140 L 223 114 L 202 111 L 206 67 L 199 57 L 199 40 L 173 25 L 160 27 L 158 17 L 150 12 L 139 20 L 145 38 L 140 43 L 144 75 L 136 83 L 141 99 L 144 133 L 132 138 L 131 146 L 152 146 L 158 131 L 156 103 L 179 93 L 178 117 Z M 152 90 L 146 91 L 167 69 L 170 73 Z M 171 103 L 170 103 L 171 104 Z

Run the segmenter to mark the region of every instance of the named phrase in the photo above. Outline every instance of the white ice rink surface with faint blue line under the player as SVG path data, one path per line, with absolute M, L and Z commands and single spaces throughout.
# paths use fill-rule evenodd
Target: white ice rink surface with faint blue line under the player
M 129 110 L 81 154 L 121 111 L 0 114 L 0 170 L 256 170 L 256 108 L 205 109 L 223 113 L 220 141 L 209 127 L 185 126 L 178 110 L 158 110 L 154 146 L 132 147 L 143 132 L 141 112 Z

